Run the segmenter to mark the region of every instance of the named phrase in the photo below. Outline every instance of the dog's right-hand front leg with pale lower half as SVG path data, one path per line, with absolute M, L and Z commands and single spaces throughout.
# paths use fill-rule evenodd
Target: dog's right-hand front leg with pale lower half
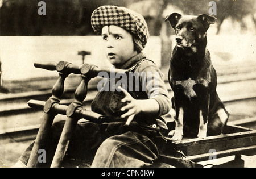
M 208 114 L 209 114 L 210 96 L 207 95 L 199 107 L 199 132 L 197 138 L 207 137 Z

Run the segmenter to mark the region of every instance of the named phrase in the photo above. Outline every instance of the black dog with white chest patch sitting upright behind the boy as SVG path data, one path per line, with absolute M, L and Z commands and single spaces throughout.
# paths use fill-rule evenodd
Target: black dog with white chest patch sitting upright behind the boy
M 168 74 L 174 91 L 176 128 L 169 135 L 174 140 L 181 140 L 183 134 L 198 138 L 220 135 L 229 114 L 216 92 L 216 70 L 206 48 L 207 30 L 216 18 L 173 13 L 166 20 L 176 31 L 177 42 Z

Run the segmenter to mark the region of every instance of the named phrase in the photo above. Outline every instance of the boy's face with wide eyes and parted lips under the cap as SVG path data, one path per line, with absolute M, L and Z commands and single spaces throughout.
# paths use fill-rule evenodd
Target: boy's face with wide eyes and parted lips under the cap
M 101 36 L 104 40 L 105 55 L 116 67 L 125 64 L 138 53 L 134 48 L 133 36 L 121 27 L 105 26 Z

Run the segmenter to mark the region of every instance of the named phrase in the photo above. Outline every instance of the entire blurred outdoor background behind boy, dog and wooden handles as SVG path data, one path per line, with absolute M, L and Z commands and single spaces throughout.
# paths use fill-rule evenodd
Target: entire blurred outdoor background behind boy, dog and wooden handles
M 211 7 L 210 0 L 45 0 L 46 15 L 39 15 L 38 2 L 0 0 L 0 167 L 13 165 L 35 138 L 43 114 L 30 109 L 27 101 L 46 101 L 58 78 L 57 72 L 35 68 L 36 61 L 110 66 L 101 52 L 101 38 L 90 25 L 94 9 L 102 5 L 125 6 L 144 16 L 151 35 L 144 51 L 164 73 L 171 96 L 167 73 L 175 34 L 164 19 L 175 12 L 209 14 Z M 217 22 L 208 30 L 208 49 L 218 74 L 217 91 L 230 113 L 230 123 L 255 128 L 256 3 L 214 2 Z M 90 55 L 83 61 L 79 51 Z M 73 101 L 80 80 L 76 75 L 67 78 L 63 104 Z M 88 109 L 97 93 L 96 84 L 97 79 L 90 81 L 84 102 Z

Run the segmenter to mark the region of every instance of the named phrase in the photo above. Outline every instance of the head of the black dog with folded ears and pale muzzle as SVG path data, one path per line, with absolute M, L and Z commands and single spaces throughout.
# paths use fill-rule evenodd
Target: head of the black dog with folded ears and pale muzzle
M 181 48 L 192 47 L 203 41 L 210 24 L 216 22 L 216 18 L 207 14 L 182 16 L 172 13 L 167 16 L 165 21 L 167 20 L 175 30 L 177 46 Z

